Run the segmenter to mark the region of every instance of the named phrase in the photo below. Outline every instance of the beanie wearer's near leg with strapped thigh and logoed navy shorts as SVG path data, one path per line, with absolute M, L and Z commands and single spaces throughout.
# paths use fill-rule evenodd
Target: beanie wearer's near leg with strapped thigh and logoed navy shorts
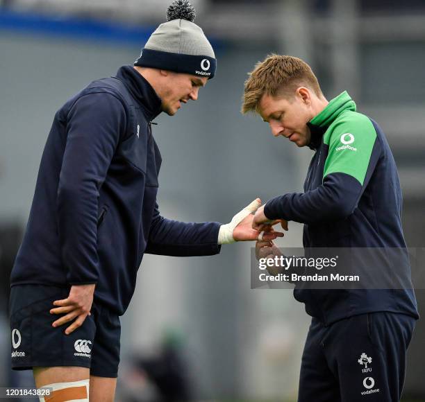
M 68 292 L 67 288 L 42 285 L 12 288 L 12 367 L 32 369 L 37 387 L 52 385 L 53 400 L 88 401 L 96 312 L 94 308 L 92 316 L 70 335 L 65 335 L 63 327 L 53 328 L 51 324 L 57 318 L 50 313 L 53 302 Z M 49 400 L 50 396 L 40 398 Z

